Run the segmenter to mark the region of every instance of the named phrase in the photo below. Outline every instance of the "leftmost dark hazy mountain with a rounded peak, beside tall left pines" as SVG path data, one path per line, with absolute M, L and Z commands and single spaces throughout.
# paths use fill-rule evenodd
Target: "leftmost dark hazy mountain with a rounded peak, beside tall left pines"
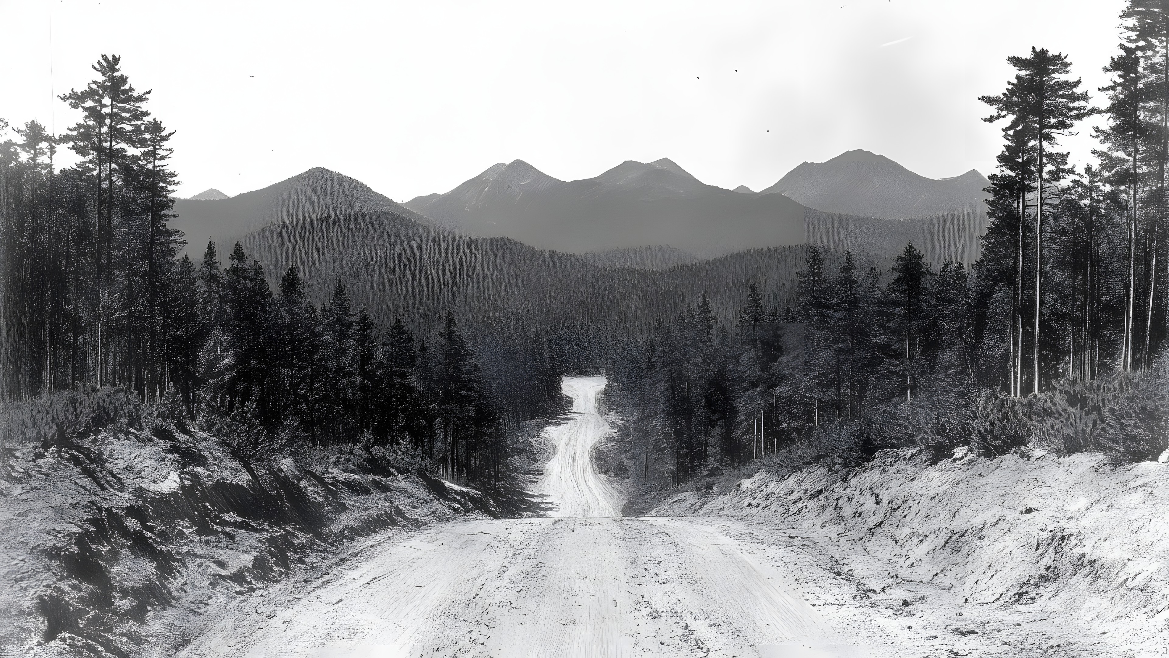
M 436 228 L 360 180 L 324 167 L 229 199 L 179 199 L 174 210 L 179 217 L 171 226 L 186 234 L 189 248 L 196 253 L 202 253 L 208 238 L 223 252 L 228 242 L 269 224 L 337 213 L 393 211 Z

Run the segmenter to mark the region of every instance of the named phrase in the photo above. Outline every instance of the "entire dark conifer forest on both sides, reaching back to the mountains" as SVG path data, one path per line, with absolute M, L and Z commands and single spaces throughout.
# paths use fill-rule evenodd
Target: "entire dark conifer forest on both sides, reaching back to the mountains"
M 68 132 L 2 125 L 0 393 L 118 388 L 250 451 L 403 445 L 472 481 L 561 409 L 561 375 L 589 372 L 659 485 L 898 446 L 1156 457 L 1169 12 L 1133 0 L 1121 18 L 1105 107 L 1042 48 L 982 98 L 1003 146 L 974 263 L 908 244 L 892 261 L 809 245 L 603 267 L 392 212 L 185 247 L 172 132 L 103 55 L 61 97 L 82 116 Z M 1078 170 L 1059 140 L 1092 117 L 1097 163 Z M 78 163 L 58 170 L 62 146 Z

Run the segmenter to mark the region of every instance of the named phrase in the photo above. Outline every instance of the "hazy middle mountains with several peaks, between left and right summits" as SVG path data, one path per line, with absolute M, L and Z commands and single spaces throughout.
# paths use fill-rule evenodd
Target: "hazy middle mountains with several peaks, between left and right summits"
M 705 185 L 669 159 L 561 181 L 523 160 L 406 204 L 456 233 L 583 253 L 671 245 L 711 258 L 803 241 L 803 207 Z

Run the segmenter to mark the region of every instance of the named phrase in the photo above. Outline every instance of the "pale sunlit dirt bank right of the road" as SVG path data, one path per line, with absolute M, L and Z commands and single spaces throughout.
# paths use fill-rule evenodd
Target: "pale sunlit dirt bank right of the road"
M 793 567 L 823 562 L 874 606 L 953 605 L 933 614 L 949 615 L 942 622 L 955 635 L 1040 623 L 1026 638 L 1007 629 L 1004 650 L 1169 654 L 1165 464 L 981 459 L 963 448 L 931 464 L 918 451 L 884 451 L 859 468 L 724 479 L 679 492 L 652 514 L 750 521 L 773 555 Z

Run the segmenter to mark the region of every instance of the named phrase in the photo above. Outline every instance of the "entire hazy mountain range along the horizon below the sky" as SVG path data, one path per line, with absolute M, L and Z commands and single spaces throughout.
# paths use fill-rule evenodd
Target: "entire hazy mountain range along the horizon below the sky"
M 173 226 L 192 249 L 227 245 L 258 228 L 336 214 L 388 211 L 426 228 L 471 238 L 512 238 L 581 254 L 607 268 L 664 269 L 760 247 L 824 244 L 891 256 L 913 241 L 926 256 L 973 262 L 987 215 L 977 171 L 919 176 L 867 151 L 803 163 L 753 192 L 707 185 L 677 163 L 627 160 L 594 178 L 560 180 L 513 160 L 445 193 L 399 205 L 367 185 L 317 167 L 230 198 L 208 190 L 177 201 Z M 392 240 L 393 235 L 380 239 Z

